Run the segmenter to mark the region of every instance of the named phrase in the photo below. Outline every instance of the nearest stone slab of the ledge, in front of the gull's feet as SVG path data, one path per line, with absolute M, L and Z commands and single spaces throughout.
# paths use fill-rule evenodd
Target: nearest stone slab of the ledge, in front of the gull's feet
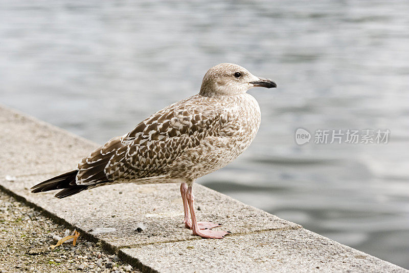
M 306 229 L 269 230 L 226 240 L 164 243 L 160 248 L 144 245 L 121 251 L 161 272 L 405 271 Z

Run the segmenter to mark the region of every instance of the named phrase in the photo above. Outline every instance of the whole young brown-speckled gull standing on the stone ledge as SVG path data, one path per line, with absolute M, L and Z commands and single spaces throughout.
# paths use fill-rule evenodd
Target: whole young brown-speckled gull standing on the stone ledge
M 185 227 L 202 238 L 224 238 L 228 232 L 213 229 L 219 224 L 197 222 L 192 189 L 197 178 L 232 162 L 255 138 L 260 107 L 246 93 L 253 87 L 277 85 L 235 64 L 214 66 L 199 94 L 157 111 L 84 157 L 75 170 L 33 186 L 32 192 L 61 189 L 55 197 L 64 198 L 109 184 L 180 183 Z

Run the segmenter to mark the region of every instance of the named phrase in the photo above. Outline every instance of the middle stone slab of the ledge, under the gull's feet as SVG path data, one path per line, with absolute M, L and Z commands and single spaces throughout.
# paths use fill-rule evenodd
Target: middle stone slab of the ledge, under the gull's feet
M 54 198 L 55 192 L 30 193 L 32 185 L 49 177 L 3 178 L 0 184 L 73 226 L 92 230 L 90 233 L 116 248 L 198 239 L 182 224 L 183 204 L 177 184 L 109 185 L 64 199 Z M 195 195 L 196 206 L 201 209 L 198 219 L 222 223 L 233 234 L 300 228 L 201 185 L 195 185 Z M 135 232 L 139 223 L 145 226 L 141 233 Z M 115 231 L 99 233 L 101 228 Z

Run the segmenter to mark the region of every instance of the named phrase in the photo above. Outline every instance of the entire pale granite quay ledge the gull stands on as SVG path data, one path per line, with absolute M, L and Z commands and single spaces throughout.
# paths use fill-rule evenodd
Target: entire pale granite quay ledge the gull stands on
M 1 106 L 0 131 L 3 190 L 101 240 L 143 271 L 409 272 L 200 185 L 194 190 L 198 218 L 220 222 L 233 235 L 192 236 L 181 223 L 175 184 L 110 185 L 62 200 L 32 194 L 32 185 L 72 169 L 97 145 Z

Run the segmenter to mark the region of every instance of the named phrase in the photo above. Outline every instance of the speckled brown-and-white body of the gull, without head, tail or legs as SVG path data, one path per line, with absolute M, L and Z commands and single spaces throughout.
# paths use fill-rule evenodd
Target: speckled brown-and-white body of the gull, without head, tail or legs
M 252 142 L 260 108 L 249 94 L 181 100 L 109 140 L 78 164 L 77 184 L 193 182 Z M 108 182 L 109 181 L 109 182 Z

